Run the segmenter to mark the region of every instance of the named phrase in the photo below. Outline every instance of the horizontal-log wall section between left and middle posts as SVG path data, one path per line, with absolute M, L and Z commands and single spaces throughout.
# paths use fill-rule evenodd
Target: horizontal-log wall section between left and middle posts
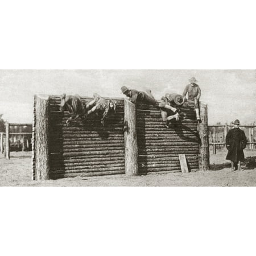
M 92 98 L 82 97 L 86 103 Z M 77 119 L 67 126 L 67 112 L 59 111 L 60 97 L 49 97 L 49 175 L 52 179 L 125 173 L 123 100 L 116 114 L 105 119 L 89 115 L 86 123 Z

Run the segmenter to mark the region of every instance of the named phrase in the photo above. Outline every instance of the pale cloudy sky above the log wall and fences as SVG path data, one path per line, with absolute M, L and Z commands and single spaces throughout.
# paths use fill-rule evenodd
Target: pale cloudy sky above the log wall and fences
M 182 93 L 196 77 L 201 101 L 208 104 L 208 123 L 256 122 L 255 70 L 0 70 L 0 114 L 9 122 L 32 123 L 34 94 L 94 92 L 123 97 L 121 86 L 150 88 L 156 99 Z

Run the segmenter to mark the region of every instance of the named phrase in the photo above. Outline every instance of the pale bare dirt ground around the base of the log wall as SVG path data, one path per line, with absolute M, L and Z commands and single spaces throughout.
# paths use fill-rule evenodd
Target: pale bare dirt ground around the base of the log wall
M 148 174 L 137 177 L 110 175 L 59 180 L 31 180 L 31 152 L 11 152 L 11 159 L 0 156 L 0 186 L 255 186 L 256 150 L 245 151 L 243 171 L 231 172 L 226 150 L 210 155 L 210 171 L 189 174 Z

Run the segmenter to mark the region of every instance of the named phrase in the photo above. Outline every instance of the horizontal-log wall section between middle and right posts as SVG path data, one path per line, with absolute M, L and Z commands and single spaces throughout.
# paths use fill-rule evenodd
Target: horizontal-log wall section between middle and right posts
M 181 171 L 179 154 L 185 154 L 188 168 L 199 168 L 200 138 L 193 105 L 181 109 L 181 121 L 166 128 L 158 107 L 137 106 L 138 166 L 147 172 Z M 185 119 L 184 119 L 185 118 Z

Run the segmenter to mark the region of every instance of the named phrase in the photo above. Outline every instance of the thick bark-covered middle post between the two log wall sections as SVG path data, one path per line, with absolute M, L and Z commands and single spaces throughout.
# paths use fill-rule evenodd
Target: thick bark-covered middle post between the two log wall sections
M 126 125 L 125 130 L 125 174 L 129 176 L 138 175 L 138 143 L 136 106 L 128 100 L 124 100 Z

